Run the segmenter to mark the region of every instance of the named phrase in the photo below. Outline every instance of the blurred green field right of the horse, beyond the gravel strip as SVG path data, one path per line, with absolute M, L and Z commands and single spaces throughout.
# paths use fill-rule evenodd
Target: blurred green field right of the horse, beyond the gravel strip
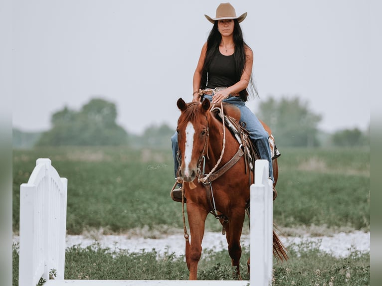
M 279 168 L 279 225 L 370 229 L 369 149 L 290 149 Z

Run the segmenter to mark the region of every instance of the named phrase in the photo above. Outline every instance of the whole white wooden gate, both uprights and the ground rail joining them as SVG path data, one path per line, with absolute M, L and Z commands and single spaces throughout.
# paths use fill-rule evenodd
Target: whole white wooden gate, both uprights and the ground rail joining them
M 19 286 L 269 286 L 272 283 L 272 181 L 268 161 L 255 161 L 251 186 L 251 281 L 64 280 L 67 179 L 50 159 L 36 161 L 28 183 L 20 186 Z M 51 270 L 55 279 L 49 278 Z

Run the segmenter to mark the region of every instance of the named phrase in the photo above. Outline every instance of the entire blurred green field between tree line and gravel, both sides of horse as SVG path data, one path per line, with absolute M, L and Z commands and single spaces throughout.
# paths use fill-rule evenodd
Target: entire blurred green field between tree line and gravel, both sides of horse
M 324 225 L 370 229 L 369 149 L 285 149 L 279 158 L 274 221 L 280 227 Z M 182 229 L 182 205 L 170 198 L 171 150 L 67 147 L 13 151 L 13 231 L 19 228 L 19 187 L 39 157 L 68 179 L 67 230 L 119 233 Z M 247 223 L 245 224 L 247 228 Z M 208 216 L 206 229 L 220 231 Z

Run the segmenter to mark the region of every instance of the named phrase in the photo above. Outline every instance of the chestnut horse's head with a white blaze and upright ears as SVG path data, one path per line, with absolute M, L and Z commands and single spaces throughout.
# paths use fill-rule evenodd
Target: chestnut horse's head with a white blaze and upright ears
M 185 103 L 180 98 L 177 102 L 182 114 L 178 120 L 178 144 L 181 166 L 178 175 L 186 182 L 192 182 L 197 173 L 199 159 L 207 151 L 207 111 L 208 99 L 202 103 Z

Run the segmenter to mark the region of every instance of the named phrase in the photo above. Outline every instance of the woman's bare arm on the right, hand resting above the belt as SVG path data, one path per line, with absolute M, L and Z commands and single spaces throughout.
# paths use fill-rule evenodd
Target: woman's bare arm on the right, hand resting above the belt
M 212 97 L 212 103 L 219 104 L 223 99 L 228 98 L 230 94 L 240 92 L 248 87 L 252 73 L 253 52 L 248 46 L 244 47 L 244 51 L 245 66 L 240 80 L 234 85 L 231 85 L 230 87 L 215 93 L 215 95 Z

